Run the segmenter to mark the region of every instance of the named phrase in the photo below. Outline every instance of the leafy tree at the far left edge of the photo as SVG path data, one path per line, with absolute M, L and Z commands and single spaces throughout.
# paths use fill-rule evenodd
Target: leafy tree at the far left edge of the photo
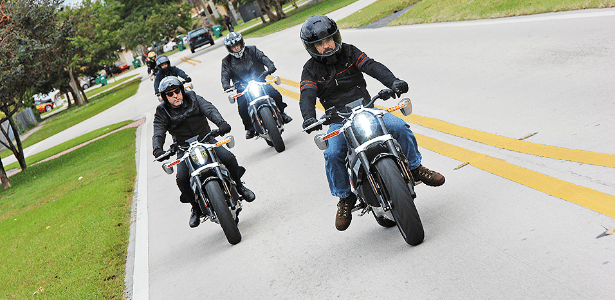
M 16 145 L 10 139 L 3 145 L 13 152 L 21 169 L 27 166 L 13 115 L 23 107 L 23 98 L 32 95 L 32 90 L 44 85 L 42 82 L 55 72 L 56 65 L 49 62 L 60 55 L 62 39 L 71 27 L 70 22 L 57 20 L 61 3 L 8 0 L 0 5 L 0 111 L 4 113 L 0 123 L 11 124 Z M 2 166 L 0 178 L 5 177 Z

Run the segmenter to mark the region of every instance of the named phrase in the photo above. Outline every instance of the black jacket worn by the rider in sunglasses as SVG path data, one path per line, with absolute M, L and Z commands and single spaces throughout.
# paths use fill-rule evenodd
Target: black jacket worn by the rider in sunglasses
M 162 150 L 167 131 L 180 146 L 187 146 L 185 141 L 196 135 L 203 138 L 211 131 L 207 119 L 218 127 L 225 122 L 213 104 L 193 91 L 184 94 L 184 102 L 178 108 L 171 107 L 165 100 L 156 107 L 154 114 L 154 152 Z

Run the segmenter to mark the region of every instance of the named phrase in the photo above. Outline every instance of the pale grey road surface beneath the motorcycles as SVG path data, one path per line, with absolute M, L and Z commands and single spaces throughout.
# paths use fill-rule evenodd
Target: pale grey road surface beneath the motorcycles
M 334 18 L 344 12 L 333 13 Z M 347 43 L 410 84 L 414 113 L 510 140 L 609 154 L 615 152 L 615 10 L 586 10 L 499 20 L 343 30 Z M 298 27 L 249 39 L 298 82 L 309 58 Z M 134 299 L 612 299 L 615 295 L 615 168 L 494 147 L 411 124 L 423 164 L 446 176 L 417 187 L 423 244 L 404 243 L 373 217 L 334 227 L 322 153 L 295 118 L 276 153 L 245 140 L 235 105 L 220 84 L 221 42 L 171 57 L 195 91 L 233 126 L 232 152 L 257 195 L 240 215 L 241 243 L 221 228 L 188 227 L 174 176 L 151 155 L 152 82 L 107 112 L 69 129 L 78 135 L 126 119 L 137 132 L 138 198 L 127 284 Z M 181 58 L 192 59 L 187 63 Z M 142 68 L 133 72 L 145 74 Z M 282 88 L 298 93 L 293 86 Z M 368 79 L 376 93 L 382 86 Z M 394 102 L 379 103 L 392 106 Z M 102 124 L 102 125 L 101 125 Z M 446 125 L 445 129 L 453 127 Z M 534 135 L 531 135 L 534 134 Z M 531 136 L 530 136 L 531 135 Z M 437 142 L 433 142 L 436 140 Z M 489 139 L 489 138 L 488 138 Z M 41 148 L 46 147 L 44 144 Z M 461 153 L 479 158 L 465 160 Z M 580 156 L 580 154 L 579 154 Z M 591 156 L 591 153 L 590 153 Z M 461 158 L 460 158 L 461 157 Z M 612 159 L 612 158 L 611 158 Z M 567 188 L 551 191 L 553 186 Z M 590 193 L 591 199 L 579 200 Z M 596 202 L 606 208 L 588 208 Z M 133 273 L 134 267 L 134 273 Z M 133 277 L 134 276 L 134 277 Z M 134 280 L 133 280 L 134 278 Z

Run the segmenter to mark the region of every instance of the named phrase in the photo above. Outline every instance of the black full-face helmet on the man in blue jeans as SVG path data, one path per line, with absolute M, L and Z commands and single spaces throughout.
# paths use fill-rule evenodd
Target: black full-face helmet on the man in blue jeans
M 327 16 L 315 15 L 309 17 L 301 26 L 301 41 L 305 50 L 315 59 L 324 63 L 335 63 L 337 55 L 342 48 L 342 36 L 335 21 Z M 335 42 L 335 49 L 332 52 L 321 54 L 316 50 L 315 44 L 332 38 Z

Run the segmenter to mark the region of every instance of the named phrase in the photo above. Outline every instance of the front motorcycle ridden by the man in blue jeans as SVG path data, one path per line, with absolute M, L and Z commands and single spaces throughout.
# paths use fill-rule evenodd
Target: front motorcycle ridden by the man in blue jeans
M 385 113 L 396 110 L 401 110 L 406 116 L 410 115 L 412 103 L 410 99 L 404 98 L 399 105 L 386 110 L 373 108 L 377 99 L 387 100 L 393 95 L 394 91 L 384 89 L 368 103 L 364 104 L 361 98 L 347 104 L 340 111 L 331 107 L 304 131 L 326 125 L 332 118 L 343 119 L 339 130 L 317 134 L 314 142 L 320 150 L 325 150 L 328 139 L 344 135 L 348 145 L 346 167 L 353 193 L 359 200 L 352 211 L 361 210 L 359 216 L 372 212 L 376 222 L 383 227 L 397 225 L 406 243 L 416 246 L 425 237 L 423 224 L 414 205 L 416 182 L 399 143 L 389 133 L 382 118 Z

